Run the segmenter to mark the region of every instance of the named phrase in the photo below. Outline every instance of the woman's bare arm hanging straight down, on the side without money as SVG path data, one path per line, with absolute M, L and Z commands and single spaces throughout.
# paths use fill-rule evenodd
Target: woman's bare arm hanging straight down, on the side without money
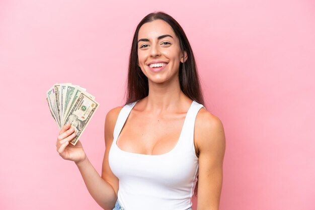
M 218 210 L 223 179 L 225 135 L 221 121 L 201 109 L 195 123 L 195 147 L 199 154 L 198 210 Z

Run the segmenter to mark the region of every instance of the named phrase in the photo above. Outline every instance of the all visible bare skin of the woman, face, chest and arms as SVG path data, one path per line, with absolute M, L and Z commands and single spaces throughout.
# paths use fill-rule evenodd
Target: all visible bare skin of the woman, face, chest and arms
M 158 39 L 162 35 L 170 36 Z M 142 25 L 138 40 L 138 65 L 148 78 L 149 94 L 132 109 L 117 145 L 127 152 L 164 154 L 177 144 L 192 103 L 181 91 L 178 79 L 179 64 L 187 59 L 187 55 L 184 52 L 183 57 L 173 29 L 162 20 Z M 156 60 L 167 63 L 160 72 L 153 72 L 148 66 Z M 104 209 L 113 209 L 117 200 L 119 180 L 109 167 L 108 154 L 121 109 L 114 108 L 106 116 L 106 150 L 101 176 L 90 163 L 80 141 L 75 146 L 68 143 L 75 136 L 70 124 L 62 128 L 56 143 L 60 156 L 76 163 L 89 192 Z M 164 132 L 158 132 L 161 130 Z M 203 108 L 196 117 L 194 146 L 199 157 L 197 209 L 219 209 L 225 136 L 221 121 Z

